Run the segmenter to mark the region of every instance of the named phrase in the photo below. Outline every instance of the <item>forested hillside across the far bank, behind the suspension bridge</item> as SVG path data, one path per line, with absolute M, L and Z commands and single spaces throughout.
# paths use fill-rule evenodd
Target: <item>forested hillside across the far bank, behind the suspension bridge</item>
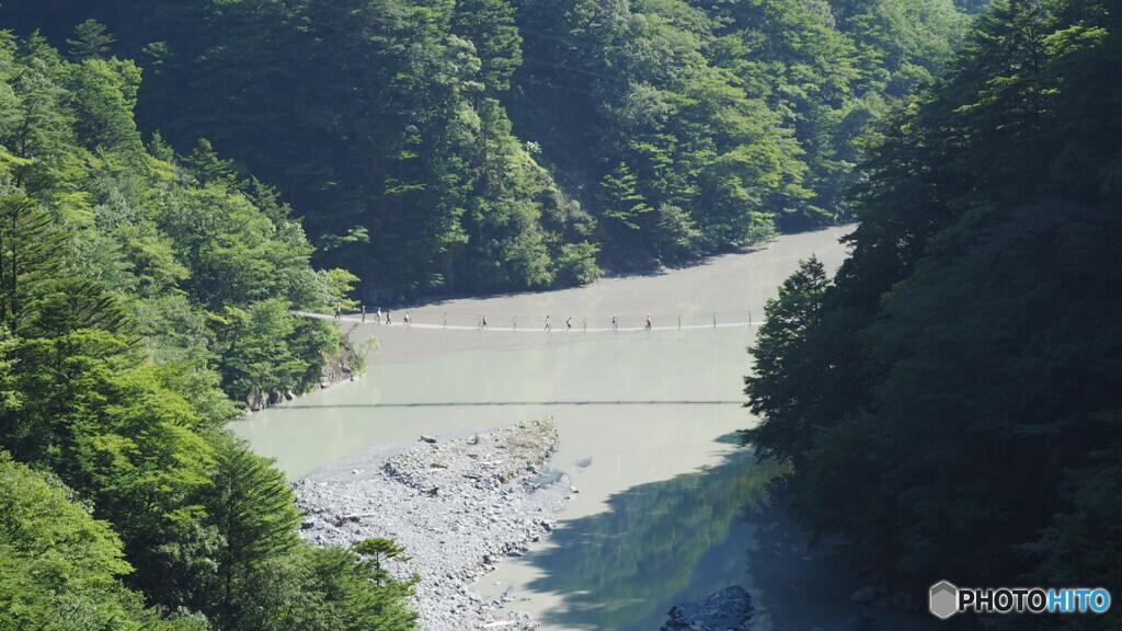
M 141 129 L 276 186 L 316 264 L 380 301 L 848 219 L 871 124 L 942 71 L 977 4 L 57 0 L 0 20 L 136 60 Z

